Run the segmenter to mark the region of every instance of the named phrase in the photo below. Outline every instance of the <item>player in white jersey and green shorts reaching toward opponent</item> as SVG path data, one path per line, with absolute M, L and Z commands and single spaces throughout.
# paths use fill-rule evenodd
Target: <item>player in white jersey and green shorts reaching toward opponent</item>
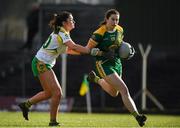
M 49 126 L 57 126 L 59 125 L 57 114 L 62 97 L 62 89 L 52 70 L 56 58 L 62 53 L 90 53 L 95 55 L 98 51 L 96 49 L 90 51 L 89 48 L 75 44 L 72 41 L 70 31 L 74 29 L 75 22 L 70 12 L 63 11 L 60 14 L 54 14 L 49 25 L 53 32 L 32 60 L 33 74 L 39 78 L 43 91 L 37 93 L 26 102 L 20 103 L 19 107 L 22 110 L 23 117 L 28 120 L 28 112 L 31 105 L 51 99 Z

